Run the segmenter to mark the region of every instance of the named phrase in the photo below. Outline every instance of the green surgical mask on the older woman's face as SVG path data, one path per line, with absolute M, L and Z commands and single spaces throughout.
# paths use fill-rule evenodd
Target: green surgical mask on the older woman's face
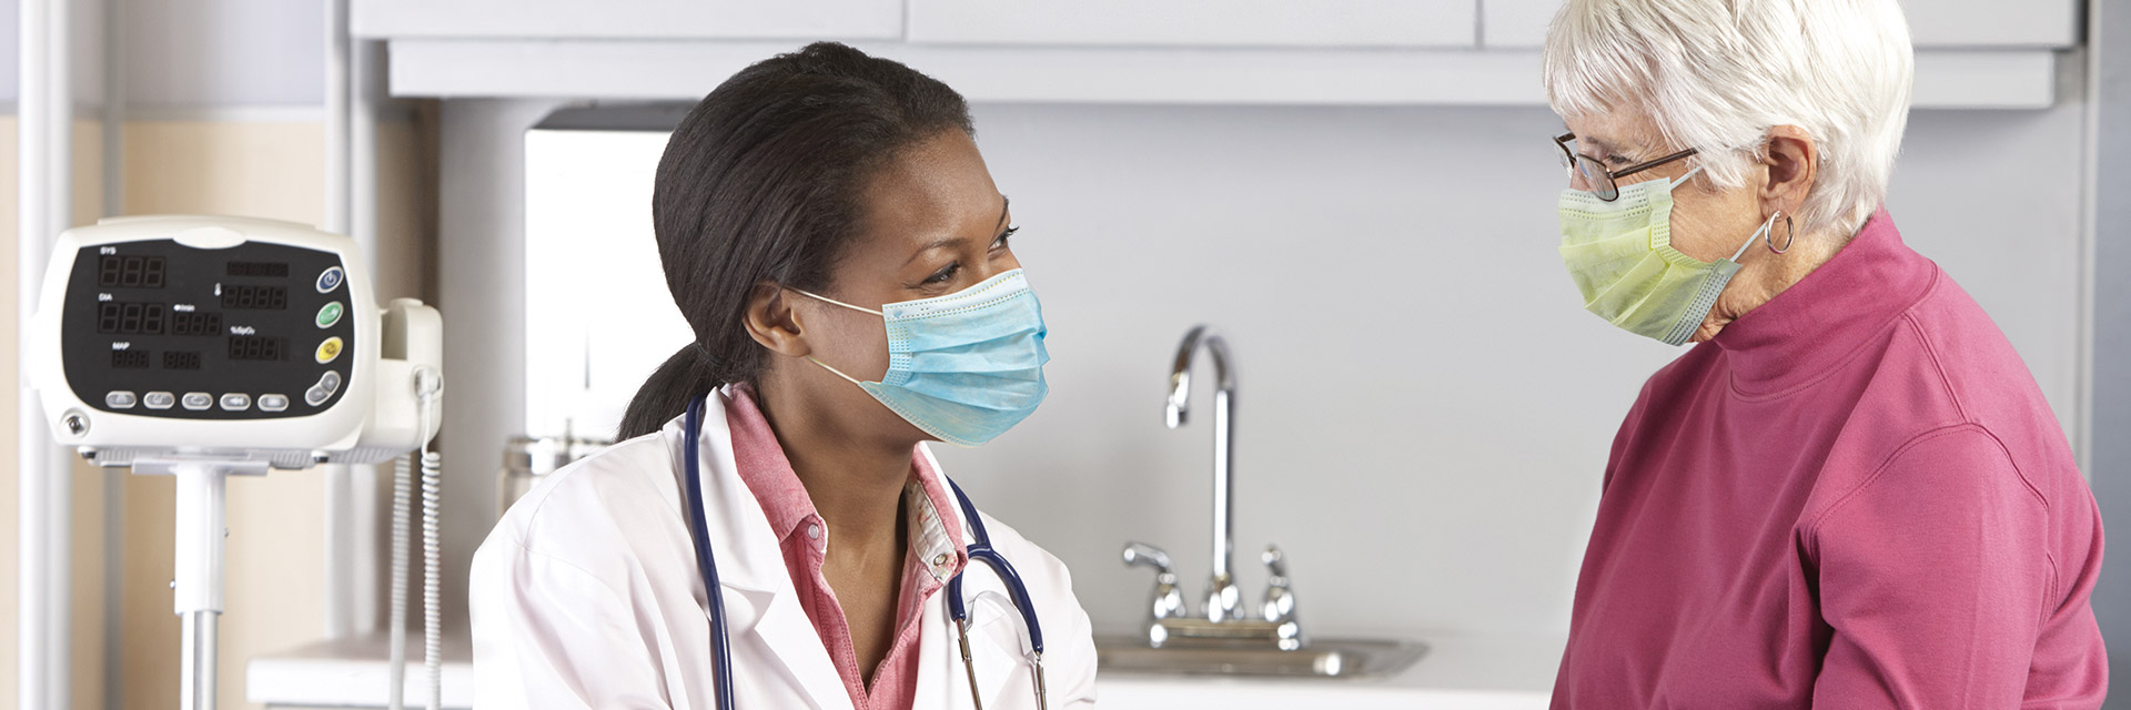
M 1688 183 L 1649 179 L 1620 188 L 1607 203 L 1583 190 L 1562 190 L 1562 262 L 1583 292 L 1583 309 L 1622 330 L 1686 343 L 1715 307 L 1739 256 L 1775 224 L 1769 217 L 1730 258 L 1703 262 L 1673 249 L 1673 190 Z

